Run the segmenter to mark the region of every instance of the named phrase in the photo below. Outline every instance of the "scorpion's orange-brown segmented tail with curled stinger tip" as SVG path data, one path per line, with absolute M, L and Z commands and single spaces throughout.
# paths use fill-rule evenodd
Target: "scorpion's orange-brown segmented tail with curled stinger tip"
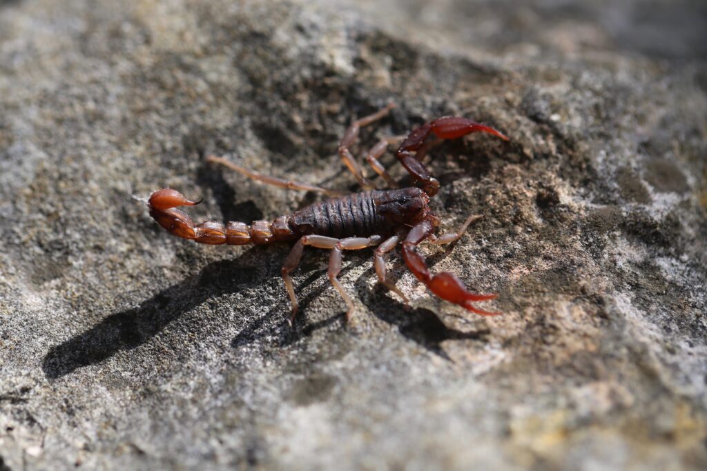
M 293 237 L 287 225 L 286 217 L 279 217 L 274 222 L 254 221 L 249 226 L 245 222 L 204 221 L 194 225 L 192 218 L 176 208 L 193 206 L 201 203 L 189 201 L 177 190 L 165 188 L 154 191 L 148 199 L 150 216 L 157 223 L 182 239 L 193 240 L 199 244 L 210 245 L 245 245 L 269 244 L 276 241 L 288 241 Z

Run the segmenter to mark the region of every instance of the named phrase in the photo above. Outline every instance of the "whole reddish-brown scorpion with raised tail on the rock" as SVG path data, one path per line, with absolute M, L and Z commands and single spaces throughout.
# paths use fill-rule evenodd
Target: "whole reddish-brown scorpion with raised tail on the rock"
M 480 216 L 470 216 L 457 232 L 441 236 L 434 234 L 440 220 L 433 214 L 428 203 L 429 198 L 438 192 L 440 184 L 422 163 L 428 150 L 443 139 L 460 138 L 477 131 L 493 134 L 505 141 L 508 141 L 508 137 L 490 126 L 479 124 L 471 119 L 443 117 L 417 127 L 407 137 L 384 138 L 366 155 L 368 164 L 392 187 L 391 189 L 377 190 L 363 176 L 361 165 L 351 154 L 349 148 L 358 140 L 361 127 L 387 116 L 393 107 L 395 105 L 388 105 L 374 114 L 354 121 L 339 142 L 341 159 L 344 160 L 346 167 L 351 170 L 351 173 L 366 191 L 344 196 L 319 186 L 257 174 L 222 157 L 212 155 L 206 160 L 225 165 L 251 179 L 288 189 L 316 191 L 331 198 L 309 205 L 291 215 L 280 216 L 273 222 L 255 221 L 250 226 L 245 222 L 227 222 L 224 227 L 221 222 L 215 221 L 194 225 L 188 215 L 176 208 L 193 206 L 200 201 L 189 201 L 182 193 L 174 189 L 161 189 L 150 195 L 148 200 L 150 215 L 170 234 L 200 244 L 263 245 L 274 242 L 295 242 L 282 266 L 282 278 L 292 302 L 290 322 L 294 321 L 298 308 L 290 272 L 300 263 L 305 246 L 331 250 L 329 280 L 341 293 L 341 297 L 344 298 L 348 306 L 347 320 L 354 311 L 354 302 L 351 301 L 351 297 L 337 279 L 337 275 L 341 271 L 341 252 L 344 250 L 359 250 L 377 246 L 374 266 L 378 281 L 392 292 L 397 293 L 407 305 L 408 299 L 405 294 L 386 278 L 385 259 L 383 258 L 401 240 L 403 260 L 416 278 L 423 282 L 431 292 L 441 299 L 458 304 L 477 314 L 484 316 L 499 314 L 498 312 L 482 311 L 473 305 L 474 302 L 493 299 L 496 294 L 469 292 L 462 281 L 449 272 L 431 275 L 424 258 L 417 253 L 416 247 L 424 240 L 433 244 L 455 242 L 462 237 L 471 222 L 480 218 Z M 395 143 L 400 143 L 395 155 L 402 166 L 407 169 L 416 186 L 397 188 L 395 180 L 390 177 L 390 174 L 378 160 L 385 154 L 388 145 Z

